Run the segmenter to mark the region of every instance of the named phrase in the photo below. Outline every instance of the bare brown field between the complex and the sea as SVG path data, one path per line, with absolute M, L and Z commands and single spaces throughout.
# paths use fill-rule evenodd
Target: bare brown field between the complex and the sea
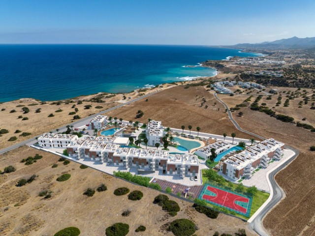
M 150 96 L 147 102 L 143 99 L 106 115 L 145 123 L 148 122 L 148 118 L 151 118 L 161 120 L 165 127 L 181 129 L 181 126 L 185 125 L 188 129 L 188 125 L 192 125 L 193 131 L 199 126 L 201 127 L 200 132 L 219 135 L 236 133 L 238 138 L 251 138 L 250 135 L 244 134 L 234 127 L 225 113 L 224 107 L 205 88 L 184 88 L 178 86 L 161 91 Z M 206 99 L 206 102 L 200 107 L 203 98 Z M 207 109 L 205 109 L 206 105 Z M 138 110 L 142 110 L 144 116 L 135 119 Z

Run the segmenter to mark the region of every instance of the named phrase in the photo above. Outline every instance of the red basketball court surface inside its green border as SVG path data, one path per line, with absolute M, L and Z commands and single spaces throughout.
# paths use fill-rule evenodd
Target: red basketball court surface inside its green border
M 207 190 L 214 194 L 209 193 Z M 212 186 L 208 186 L 207 190 L 203 194 L 202 199 L 208 200 L 210 202 L 219 204 L 224 207 L 229 207 L 231 209 L 240 211 L 244 214 L 247 213 L 248 205 L 249 205 L 248 198 L 245 198 L 237 194 L 233 194 L 233 193 L 230 193 L 230 192 L 227 192 L 227 191 L 224 191 L 219 188 L 212 187 Z M 208 195 L 207 192 L 215 196 Z

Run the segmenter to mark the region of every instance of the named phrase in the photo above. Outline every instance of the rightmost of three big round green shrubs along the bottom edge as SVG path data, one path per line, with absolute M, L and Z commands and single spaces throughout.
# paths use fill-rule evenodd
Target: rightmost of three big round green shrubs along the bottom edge
M 171 222 L 167 230 L 175 236 L 191 236 L 196 232 L 196 225 L 188 219 L 177 219 Z

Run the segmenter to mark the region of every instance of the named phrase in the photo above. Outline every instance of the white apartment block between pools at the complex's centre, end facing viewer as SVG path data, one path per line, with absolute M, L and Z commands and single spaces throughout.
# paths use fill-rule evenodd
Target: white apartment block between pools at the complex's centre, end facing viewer
M 162 145 L 164 136 L 164 128 L 161 121 L 151 120 L 146 127 L 146 135 L 149 140 L 149 146 L 155 146 L 156 143 Z

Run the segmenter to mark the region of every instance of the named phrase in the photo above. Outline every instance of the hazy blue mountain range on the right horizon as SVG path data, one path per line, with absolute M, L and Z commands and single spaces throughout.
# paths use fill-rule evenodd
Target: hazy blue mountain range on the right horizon
M 285 38 L 272 42 L 263 43 L 239 43 L 233 48 L 291 48 L 291 49 L 311 49 L 315 48 L 315 37 L 312 38 Z

